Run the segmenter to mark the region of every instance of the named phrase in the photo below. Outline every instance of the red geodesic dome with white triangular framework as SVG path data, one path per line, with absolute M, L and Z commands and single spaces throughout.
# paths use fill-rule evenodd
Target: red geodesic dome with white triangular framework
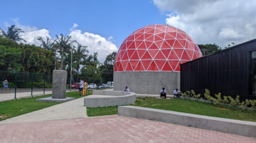
M 197 43 L 174 26 L 135 30 L 119 47 L 114 71 L 180 71 L 179 64 L 202 57 Z

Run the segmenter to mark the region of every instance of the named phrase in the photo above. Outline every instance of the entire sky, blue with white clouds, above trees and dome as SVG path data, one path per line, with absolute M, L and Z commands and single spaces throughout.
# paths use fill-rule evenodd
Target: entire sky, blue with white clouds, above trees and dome
M 2 0 L 0 27 L 16 24 L 35 45 L 38 36 L 71 35 L 102 62 L 134 30 L 150 24 L 176 26 L 197 44 L 226 47 L 255 39 L 255 9 L 251 0 Z

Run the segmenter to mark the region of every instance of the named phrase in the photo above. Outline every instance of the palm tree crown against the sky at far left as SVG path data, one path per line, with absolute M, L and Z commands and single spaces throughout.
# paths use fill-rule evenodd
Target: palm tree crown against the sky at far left
M 21 28 L 16 28 L 15 25 L 8 27 L 7 33 L 0 28 L 0 33 L 3 35 L 3 37 L 12 39 L 14 41 L 25 41 L 25 39 L 20 37 L 20 33 L 24 33 L 24 31 L 22 31 Z

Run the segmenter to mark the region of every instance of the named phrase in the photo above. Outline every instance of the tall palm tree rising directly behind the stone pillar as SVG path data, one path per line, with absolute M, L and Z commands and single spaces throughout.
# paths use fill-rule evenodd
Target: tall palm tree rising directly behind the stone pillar
M 61 70 L 63 70 L 63 56 L 64 54 L 70 54 L 70 49 L 73 46 L 73 43 L 76 41 L 71 41 L 71 36 L 65 37 L 62 33 L 60 36 L 57 36 L 57 41 L 54 43 L 54 47 L 58 47 L 59 53 L 61 54 Z

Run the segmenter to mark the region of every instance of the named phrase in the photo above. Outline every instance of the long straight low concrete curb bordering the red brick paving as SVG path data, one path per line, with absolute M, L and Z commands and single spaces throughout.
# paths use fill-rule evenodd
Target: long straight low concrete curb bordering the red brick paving
M 187 125 L 189 127 L 197 127 L 199 129 L 222 131 L 229 134 L 238 134 L 256 138 L 256 123 L 250 121 L 178 113 L 170 110 L 159 110 L 138 106 L 118 106 L 118 115 L 161 121 L 164 123 Z

